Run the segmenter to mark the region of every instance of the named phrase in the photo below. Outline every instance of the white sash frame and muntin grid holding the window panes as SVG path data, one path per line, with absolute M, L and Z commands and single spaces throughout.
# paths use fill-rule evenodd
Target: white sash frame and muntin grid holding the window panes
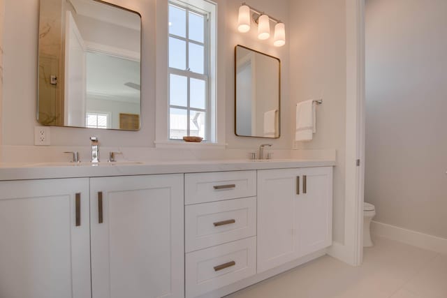
M 180 139 L 171 138 L 171 129 L 170 129 L 170 109 L 178 109 L 178 110 L 186 110 L 186 135 L 191 135 L 191 119 L 193 118 L 191 112 L 204 112 L 205 113 L 205 132 L 204 132 L 204 141 L 212 142 L 212 104 L 211 104 L 211 85 L 210 85 L 210 77 L 212 70 L 212 62 L 211 62 L 211 24 L 210 24 L 210 12 L 206 10 L 202 10 L 200 8 L 196 8 L 195 6 L 191 6 L 188 3 L 184 3 L 182 1 L 170 0 L 168 1 L 168 20 L 169 20 L 169 7 L 175 6 L 182 10 L 185 10 L 186 15 L 186 27 L 185 27 L 185 37 L 177 36 L 173 33 L 169 32 L 168 29 L 168 140 L 170 141 L 178 141 Z M 203 43 L 198 42 L 197 40 L 193 40 L 189 38 L 189 13 L 196 13 L 198 15 L 203 16 Z M 186 69 L 181 70 L 178 68 L 171 68 L 169 66 L 169 58 L 170 58 L 170 38 L 176 38 L 177 40 L 182 40 L 185 43 L 185 59 L 186 59 Z M 189 68 L 189 43 L 193 43 L 195 45 L 203 46 L 203 74 L 194 73 Z M 179 105 L 171 105 L 170 104 L 170 76 L 171 75 L 179 75 L 182 77 L 186 77 L 186 107 Z M 205 109 L 199 109 L 196 107 L 191 107 L 191 79 L 203 80 L 205 81 Z

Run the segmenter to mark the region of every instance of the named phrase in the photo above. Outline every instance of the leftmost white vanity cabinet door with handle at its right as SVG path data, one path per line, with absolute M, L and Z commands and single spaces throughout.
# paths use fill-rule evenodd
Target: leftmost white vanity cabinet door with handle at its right
M 1 181 L 0 239 L 0 297 L 91 297 L 88 179 Z

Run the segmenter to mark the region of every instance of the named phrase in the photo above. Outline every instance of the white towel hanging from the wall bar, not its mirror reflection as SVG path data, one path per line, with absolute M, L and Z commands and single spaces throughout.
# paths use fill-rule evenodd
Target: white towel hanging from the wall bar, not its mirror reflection
M 296 105 L 296 141 L 310 141 L 316 133 L 316 112 L 314 100 L 306 100 Z

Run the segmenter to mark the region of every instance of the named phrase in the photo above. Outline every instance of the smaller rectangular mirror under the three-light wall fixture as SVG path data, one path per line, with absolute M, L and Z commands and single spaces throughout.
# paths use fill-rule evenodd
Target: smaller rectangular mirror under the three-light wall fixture
M 280 67 L 278 58 L 235 47 L 235 134 L 278 138 L 280 135 Z

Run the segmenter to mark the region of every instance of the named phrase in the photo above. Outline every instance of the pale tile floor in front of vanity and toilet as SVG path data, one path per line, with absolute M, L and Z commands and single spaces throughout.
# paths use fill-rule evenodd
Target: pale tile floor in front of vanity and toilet
M 325 255 L 227 298 L 447 298 L 447 254 L 374 241 L 360 267 Z

